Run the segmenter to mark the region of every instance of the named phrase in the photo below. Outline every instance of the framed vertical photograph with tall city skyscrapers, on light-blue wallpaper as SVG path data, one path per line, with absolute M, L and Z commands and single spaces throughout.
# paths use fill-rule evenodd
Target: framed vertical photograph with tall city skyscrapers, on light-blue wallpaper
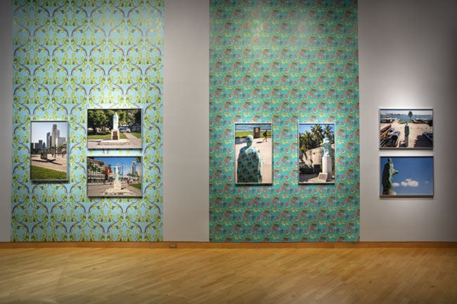
M 67 121 L 31 121 L 30 125 L 30 180 L 32 183 L 66 182 Z

